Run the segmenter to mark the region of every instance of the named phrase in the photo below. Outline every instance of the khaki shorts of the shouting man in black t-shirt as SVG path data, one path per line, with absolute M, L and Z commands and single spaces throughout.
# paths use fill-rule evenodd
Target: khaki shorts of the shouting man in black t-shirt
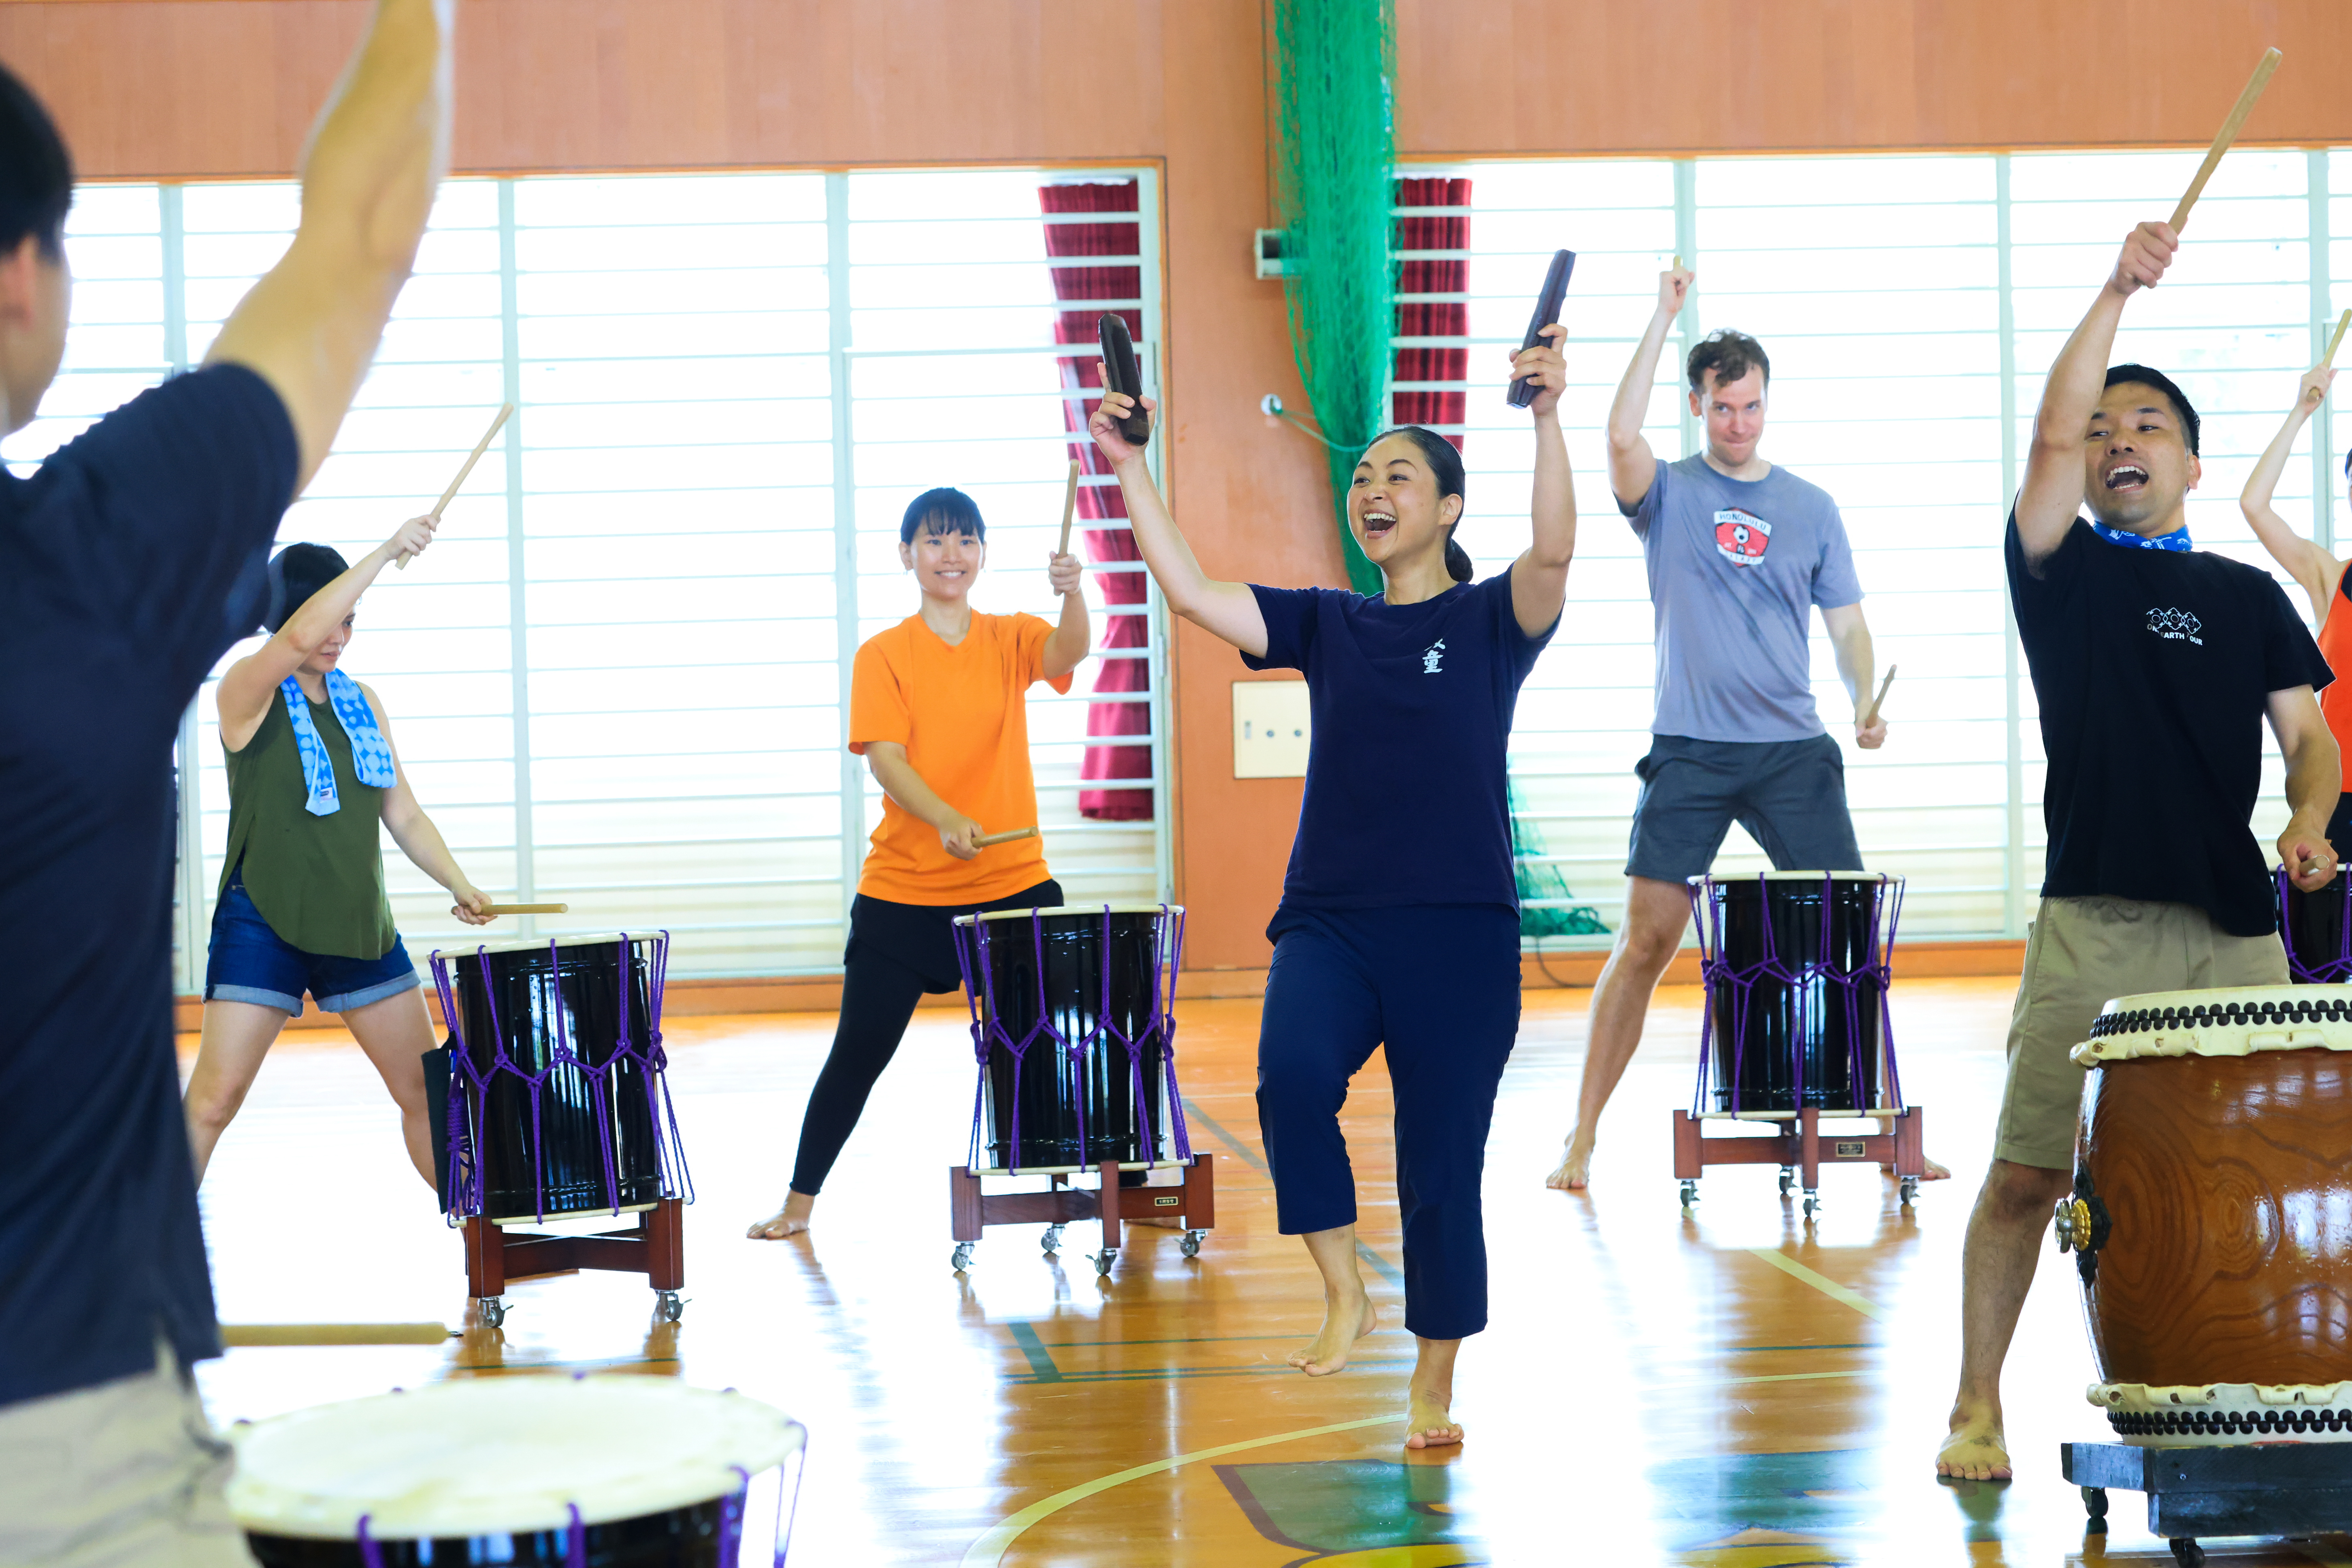
M 2067 1051 L 2091 1039 L 2112 997 L 2286 985 L 2277 936 L 2230 936 L 2185 903 L 2044 898 L 2025 938 L 2025 978 L 2009 1016 L 2009 1084 L 1994 1159 L 2074 1168 L 2082 1074 Z

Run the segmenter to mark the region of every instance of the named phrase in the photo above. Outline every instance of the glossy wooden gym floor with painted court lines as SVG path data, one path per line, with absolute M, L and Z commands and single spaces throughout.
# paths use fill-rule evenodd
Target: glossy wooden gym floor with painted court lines
M 1364 1269 L 1385 1314 L 1357 1361 L 1308 1380 L 1282 1354 L 1319 1321 L 1277 1237 L 1251 1105 L 1256 1004 L 1192 1001 L 1181 1072 L 1218 1157 L 1197 1260 L 1131 1229 L 1096 1279 L 1087 1225 L 1037 1227 L 948 1267 L 946 1168 L 964 1150 L 971 1051 L 924 1011 L 818 1206 L 814 1239 L 755 1244 L 783 1197 L 830 1016 L 670 1025 L 670 1088 L 699 1201 L 687 1312 L 652 1326 L 642 1279 L 555 1276 L 503 1331 L 442 1347 L 233 1349 L 202 1368 L 216 1422 L 433 1378 L 635 1371 L 741 1387 L 809 1427 L 795 1563 L 1042 1568 L 1444 1568 L 1456 1563 L 2169 1563 L 2136 1493 L 2084 1533 L 2063 1439 L 2100 1439 L 2072 1269 L 2056 1253 L 2009 1361 L 2013 1486 L 1940 1486 L 1959 1241 L 1990 1150 L 2009 980 L 1896 990 L 1903 1084 L 1959 1175 L 1915 1213 L 1870 1168 L 1823 1175 L 1806 1227 L 1769 1166 L 1675 1201 L 1668 1112 L 1689 1105 L 1698 992 L 1665 990 L 1604 1126 L 1590 1197 L 1545 1192 L 1573 1107 L 1590 992 L 1529 992 L 1486 1157 L 1494 1326 L 1463 1349 L 1458 1453 L 1399 1448 L 1411 1340 L 1388 1079 L 1357 1079 L 1348 1135 Z M 183 1063 L 193 1053 L 183 1039 Z M 228 1324 L 463 1321 L 463 1260 L 400 1157 L 348 1037 L 289 1037 L 205 1185 Z M 463 1434 L 452 1434 L 461 1439 Z M 2211 1544 L 2216 1563 L 2352 1563 L 2352 1540 Z

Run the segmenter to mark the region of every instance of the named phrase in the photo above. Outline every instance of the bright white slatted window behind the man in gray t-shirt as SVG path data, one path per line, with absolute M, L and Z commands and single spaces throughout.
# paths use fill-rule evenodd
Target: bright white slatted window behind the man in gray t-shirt
M 1578 252 L 1564 416 L 1578 564 L 1512 743 L 1522 830 L 1536 839 L 1531 858 L 1562 875 L 1569 896 L 1559 903 L 1595 905 L 1609 926 L 1621 917 L 1653 656 L 1642 552 L 1609 496 L 1602 425 L 1656 301 L 1656 275 L 1679 252 L 1698 289 L 1661 357 L 1651 447 L 1670 461 L 1700 444 L 1682 411 L 1682 355 L 1703 331 L 1738 327 L 1764 341 L 1773 360 L 1764 454 L 1837 498 L 1879 670 L 1903 668 L 1889 745 L 1865 755 L 1849 743 L 1865 863 L 1910 877 L 1912 936 L 2023 933 L 2042 882 L 2042 752 L 2006 621 L 2006 496 L 2051 357 L 2124 233 L 2164 216 L 2194 162 L 2084 153 L 1404 169 L 1472 181 L 1472 505 L 1461 538 L 1482 576 L 1524 545 L 1531 437 L 1496 390 L 1503 355 L 1517 348 L 1550 252 Z M 2352 296 L 2331 294 L 2324 259 L 2352 252 L 2347 162 L 2345 153 L 2232 153 L 2197 207 L 2173 277 L 2133 303 L 2114 350 L 2173 374 L 2199 404 L 2197 543 L 2263 567 L 2270 559 L 2234 498 L 2293 400 L 2296 374 L 2324 348 L 2331 299 Z M 2345 197 L 2331 202 L 2328 181 Z M 2345 233 L 2333 249 L 2324 244 L 2331 230 Z M 2333 270 L 2352 277 L 2352 256 Z M 2279 510 L 2328 538 L 2321 470 L 2333 473 L 2319 458 L 2291 463 Z M 1813 691 L 1844 741 L 1849 698 L 1818 621 Z M 2274 757 L 2263 790 L 2256 832 L 2267 842 L 2284 818 Z M 1733 827 L 1719 870 L 1762 865 Z

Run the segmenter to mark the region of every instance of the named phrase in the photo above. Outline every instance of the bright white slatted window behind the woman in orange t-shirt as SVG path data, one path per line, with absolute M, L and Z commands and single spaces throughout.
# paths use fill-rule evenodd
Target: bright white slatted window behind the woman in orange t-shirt
M 1096 176 L 1143 183 L 1129 261 L 1150 280 L 1138 350 L 1157 388 L 1157 190 L 1148 172 Z M 1068 437 L 1037 209 L 1054 179 L 442 188 L 374 371 L 280 541 L 358 557 L 433 503 L 501 400 L 520 407 L 426 562 L 369 590 L 348 668 L 390 708 L 466 872 L 501 898 L 572 903 L 524 929 L 666 926 L 682 976 L 840 966 L 875 811 L 842 752 L 847 658 L 915 604 L 896 571 L 906 501 L 969 489 L 993 524 L 981 607 L 1058 614 L 1044 552 Z M 68 360 L 0 456 L 26 473 L 200 362 L 296 212 L 289 181 L 85 186 Z M 1160 715 L 1157 599 L 1122 614 L 1150 628 L 1124 651 L 1152 672 L 1129 696 Z M 1120 778 L 1150 785 L 1150 820 L 1077 813 L 1096 665 L 1070 698 L 1030 698 L 1047 849 L 1075 898 L 1167 896 L 1162 722 L 1131 738 Z M 181 790 L 174 936 L 195 990 L 228 827 L 209 686 L 181 729 Z M 412 952 L 461 938 L 390 844 L 386 875 Z

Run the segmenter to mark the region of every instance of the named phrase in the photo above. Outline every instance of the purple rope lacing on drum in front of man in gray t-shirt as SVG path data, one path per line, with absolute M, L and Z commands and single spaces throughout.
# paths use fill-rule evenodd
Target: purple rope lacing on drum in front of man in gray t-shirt
M 1705 877 L 1698 877 L 1691 884 L 1686 884 L 1686 891 L 1689 891 L 1689 898 L 1691 898 L 1691 919 L 1698 926 L 1698 980 L 1705 987 L 1705 1011 L 1703 1011 L 1700 1025 L 1698 1025 L 1698 1039 L 1700 1039 L 1700 1051 L 1698 1051 L 1698 1086 L 1691 1093 L 1691 1114 L 1698 1117 L 1698 1114 L 1703 1114 L 1708 1110 L 1708 1086 L 1710 1086 L 1712 1067 L 1715 1067 L 1715 992 L 1717 992 L 1717 985 L 1724 985 L 1731 992 L 1731 1084 L 1729 1084 L 1729 1088 L 1731 1088 L 1731 1112 L 1733 1114 L 1740 1112 L 1740 1065 L 1743 1065 L 1743 1060 L 1748 1056 L 1748 1009 L 1755 1001 L 1755 983 L 1757 980 L 1778 980 L 1780 985 L 1790 987 L 1790 992 L 1797 999 L 1795 1025 L 1797 1025 L 1797 1039 L 1799 1041 L 1811 1034 L 1811 1027 L 1809 1027 L 1811 1025 L 1811 980 L 1823 980 L 1828 985 L 1839 985 L 1839 987 L 1846 990 L 1846 1070 L 1851 1074 L 1846 1081 L 1853 1084 L 1856 1095 L 1860 1095 L 1860 1088 L 1863 1088 L 1863 1081 L 1865 1081 L 1865 1072 L 1863 1072 L 1863 1032 L 1860 1032 L 1863 1030 L 1863 1020 L 1860 1020 L 1860 1009 L 1856 1006 L 1858 1004 L 1856 987 L 1863 985 L 1865 980 L 1875 980 L 1877 987 L 1879 987 L 1879 997 L 1877 997 L 1877 1001 L 1879 1001 L 1879 1039 L 1886 1046 L 1886 1093 L 1889 1093 L 1889 1110 L 1898 1110 L 1900 1112 L 1903 1110 L 1903 1077 L 1896 1070 L 1896 1046 L 1893 1046 L 1896 1032 L 1893 1032 L 1893 1011 L 1889 1009 L 1889 987 L 1893 983 L 1891 957 L 1893 957 L 1893 943 L 1896 943 L 1896 926 L 1903 919 L 1903 889 L 1893 886 L 1891 879 L 1884 872 L 1879 875 L 1877 889 L 1870 893 L 1870 938 L 1867 938 L 1867 947 L 1863 952 L 1863 964 L 1858 969 L 1837 969 L 1828 957 L 1820 957 L 1820 959 L 1816 959 L 1811 964 L 1785 966 L 1785 964 L 1780 964 L 1780 954 L 1773 947 L 1773 926 L 1771 926 L 1771 905 L 1769 905 L 1771 884 L 1764 879 L 1764 872 L 1757 872 L 1757 926 L 1759 926 L 1759 936 L 1762 936 L 1762 943 L 1764 943 L 1764 957 L 1757 959 L 1755 964 L 1740 969 L 1740 966 L 1731 964 L 1731 959 L 1724 957 L 1724 917 L 1722 917 L 1722 905 L 1715 898 L 1708 898 L 1708 891 L 1712 886 L 1715 884 L 1710 879 L 1705 879 Z M 1889 898 L 1889 889 L 1893 889 L 1891 898 Z M 1835 931 L 1835 922 L 1832 922 L 1832 917 L 1835 917 L 1835 905 L 1832 905 L 1835 896 L 1837 896 L 1837 877 L 1835 875 L 1825 875 L 1820 879 L 1820 945 L 1818 945 L 1818 952 L 1823 952 L 1823 954 L 1830 952 L 1830 938 L 1832 938 L 1832 931 Z M 1882 922 L 1884 922 L 1884 929 L 1882 929 Z M 1797 1110 L 1804 1110 L 1804 1051 L 1802 1048 L 1792 1053 L 1790 1067 L 1792 1067 L 1790 1103 Z M 1856 1105 L 1856 1110 L 1872 1110 L 1872 1107 Z

